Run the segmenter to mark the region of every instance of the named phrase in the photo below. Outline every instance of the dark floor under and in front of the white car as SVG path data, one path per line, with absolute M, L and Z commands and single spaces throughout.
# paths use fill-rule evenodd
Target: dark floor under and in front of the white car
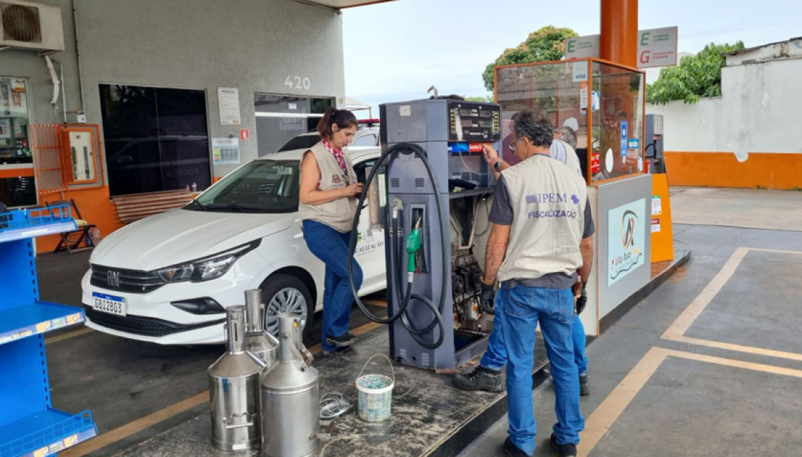
M 80 279 L 89 267 L 89 255 L 90 252 L 84 251 L 38 256 L 43 300 L 80 306 Z M 379 315 L 383 310 L 377 306 L 369 308 Z M 320 322 L 318 314 L 307 346 L 314 347 L 320 342 Z M 356 308 L 351 324 L 352 328 L 372 328 L 367 317 Z M 377 331 L 371 330 L 361 338 Z M 49 333 L 45 341 L 53 405 L 73 413 L 91 410 L 101 435 L 124 431 L 107 435 L 107 446 L 100 448 L 104 442 L 92 439 L 83 443 L 83 447 L 59 453 L 63 457 L 115 455 L 207 413 L 206 369 L 224 350 L 221 345 L 159 346 L 113 337 L 83 326 Z

